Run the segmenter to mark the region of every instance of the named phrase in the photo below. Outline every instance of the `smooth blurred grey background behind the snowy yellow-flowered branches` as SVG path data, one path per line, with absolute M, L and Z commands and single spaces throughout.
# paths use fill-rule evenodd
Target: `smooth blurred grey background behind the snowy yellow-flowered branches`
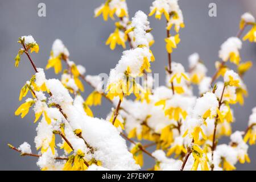
M 27 141 L 34 147 L 36 125 L 34 115 L 30 112 L 24 119 L 15 117 L 14 111 L 21 104 L 18 101 L 19 90 L 32 74 L 31 65 L 27 57 L 22 56 L 19 68 L 14 67 L 19 44 L 18 37 L 31 34 L 40 46 L 38 54 L 33 53 L 32 59 L 38 67 L 46 66 L 51 46 L 56 38 L 63 40 L 71 53 L 71 60 L 82 64 L 87 69 L 87 74 L 109 73 L 111 68 L 121 57 L 123 49 L 117 47 L 111 51 L 105 46 L 105 40 L 114 31 L 114 22 L 104 22 L 102 17 L 93 18 L 94 9 L 104 0 L 10 0 L 0 1 L 0 169 L 7 170 L 38 170 L 35 158 L 19 156 L 7 147 L 7 143 L 14 146 Z M 38 16 L 38 3 L 46 3 L 46 17 Z M 217 17 L 209 17 L 208 5 L 214 2 L 217 5 Z M 127 0 L 129 14 L 133 16 L 136 11 L 142 10 L 149 13 L 152 0 Z M 240 16 L 250 11 L 256 15 L 255 0 L 180 0 L 179 5 L 184 15 L 185 28 L 180 31 L 181 43 L 172 54 L 173 60 L 182 63 L 187 68 L 187 57 L 193 52 L 199 52 L 200 57 L 208 67 L 208 75 L 214 73 L 214 61 L 218 60 L 218 50 L 222 42 L 230 36 L 235 36 L 238 31 Z M 152 64 L 152 71 L 160 74 L 160 84 L 164 84 L 164 66 L 167 63 L 167 53 L 164 38 L 166 36 L 165 20 L 156 20 L 150 17 L 152 34 L 155 44 L 152 52 L 156 61 Z M 242 59 L 251 60 L 255 64 L 256 46 L 254 43 L 245 42 L 241 51 Z M 245 105 L 235 106 L 236 122 L 233 130 L 245 130 L 251 109 L 256 106 L 256 67 L 255 65 L 245 76 L 245 83 L 249 97 Z M 46 71 L 47 78 L 59 77 L 53 70 Z M 84 97 L 92 91 L 85 86 Z M 103 100 L 102 106 L 93 108 L 94 115 L 105 118 L 110 110 L 108 101 Z M 228 142 L 228 138 L 222 142 Z M 250 164 L 238 164 L 237 169 L 256 169 L 256 146 L 250 146 Z M 146 158 L 146 166 L 152 166 L 152 160 Z M 143 168 L 146 169 L 146 168 Z

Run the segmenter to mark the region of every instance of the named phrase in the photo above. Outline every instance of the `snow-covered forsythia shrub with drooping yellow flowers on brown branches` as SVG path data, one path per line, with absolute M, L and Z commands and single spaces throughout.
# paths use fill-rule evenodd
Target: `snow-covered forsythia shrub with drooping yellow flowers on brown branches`
M 69 60 L 69 51 L 59 39 L 52 45 L 46 69 L 54 68 L 62 75 L 60 80 L 47 79 L 30 55 L 39 51 L 38 43 L 31 35 L 19 38 L 22 48 L 15 66 L 26 55 L 35 75 L 20 90 L 20 101 L 28 92 L 31 98 L 23 101 L 15 115 L 23 118 L 34 111 L 38 123 L 35 147 L 40 152 L 32 154 L 27 142 L 9 147 L 37 157 L 42 170 L 137 170 L 143 166 L 143 155 L 155 160 L 151 170 L 234 170 L 237 162 L 249 163 L 247 142 L 256 141 L 256 107 L 247 129 L 232 132 L 232 105 L 243 105 L 247 96 L 243 75 L 252 63 L 241 60 L 240 49 L 242 40 L 256 42 L 254 17 L 249 13 L 241 16 L 240 31 L 221 45 L 216 73 L 209 77 L 198 53 L 189 56 L 188 71 L 171 60 L 180 42 L 179 31 L 185 27 L 183 14 L 177 0 L 154 1 L 149 16 L 161 19 L 163 14 L 167 21 L 168 67 L 166 85 L 153 88 L 147 73 L 155 61 L 150 49 L 154 38 L 147 15 L 138 11 L 130 19 L 125 0 L 107 0 L 95 10 L 96 17 L 101 14 L 104 20 L 117 19 L 106 45 L 110 49 L 130 46 L 110 71 L 105 90 L 100 76 L 85 76 L 85 68 Z M 241 40 L 245 27 L 251 30 Z M 230 69 L 228 62 L 237 70 Z M 141 84 L 140 77 L 144 78 Z M 94 89 L 86 100 L 81 97 L 82 82 Z M 199 96 L 193 94 L 193 85 L 198 86 Z M 135 100 L 130 99 L 131 94 Z M 93 117 L 90 109 L 101 104 L 102 96 L 115 107 L 106 119 Z M 222 136 L 230 136 L 230 143 L 218 144 Z M 62 142 L 56 144 L 56 137 Z M 129 148 L 123 138 L 131 144 Z M 143 146 L 137 142 L 141 140 L 150 143 Z M 150 146 L 156 148 L 152 154 L 147 150 Z

